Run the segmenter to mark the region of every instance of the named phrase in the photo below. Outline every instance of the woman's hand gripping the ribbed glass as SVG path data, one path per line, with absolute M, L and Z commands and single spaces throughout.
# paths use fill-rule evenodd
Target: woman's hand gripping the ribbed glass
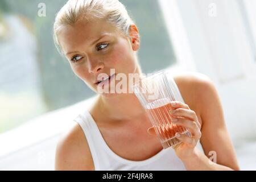
M 176 137 L 181 141 L 181 143 L 174 146 L 176 155 L 180 159 L 189 158 L 195 154 L 195 147 L 198 140 L 201 138 L 201 125 L 197 119 L 195 111 L 189 109 L 187 104 L 184 104 L 179 101 L 171 102 L 172 110 L 170 110 L 172 122 L 175 125 L 180 125 L 187 128 L 192 136 L 188 137 L 187 135 L 182 135 L 181 133 L 176 133 Z M 175 121 L 175 119 L 177 121 Z M 148 130 L 149 134 L 154 134 L 154 126 L 150 127 Z

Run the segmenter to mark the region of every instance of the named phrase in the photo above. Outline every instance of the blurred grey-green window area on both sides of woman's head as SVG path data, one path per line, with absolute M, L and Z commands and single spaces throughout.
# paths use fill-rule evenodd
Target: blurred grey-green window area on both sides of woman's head
M 94 95 L 53 43 L 55 14 L 65 2 L 0 1 L 0 133 Z M 176 57 L 158 1 L 121 2 L 141 34 L 142 71 L 150 73 L 174 64 Z M 46 16 L 38 16 L 40 3 L 46 5 Z

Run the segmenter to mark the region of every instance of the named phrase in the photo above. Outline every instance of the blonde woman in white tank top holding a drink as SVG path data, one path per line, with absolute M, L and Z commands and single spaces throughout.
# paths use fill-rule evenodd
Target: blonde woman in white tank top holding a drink
M 239 169 L 220 99 L 206 76 L 174 76 L 186 104 L 172 103 L 172 117 L 192 133 L 192 137 L 177 133 L 181 143 L 174 149 L 163 150 L 133 93 L 98 92 L 101 73 L 106 74 L 104 83 L 117 83 L 108 80 L 117 73 L 142 74 L 136 54 L 139 31 L 118 0 L 68 1 L 56 15 L 54 35 L 75 75 L 98 93 L 89 110 L 79 115 L 60 140 L 56 170 Z M 110 75 L 113 68 L 115 75 Z M 196 147 L 199 140 L 204 152 Z M 216 163 L 208 159 L 212 152 Z

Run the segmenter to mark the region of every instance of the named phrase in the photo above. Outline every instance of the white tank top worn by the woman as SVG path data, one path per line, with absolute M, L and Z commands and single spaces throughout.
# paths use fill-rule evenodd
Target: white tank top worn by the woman
M 168 81 L 172 84 L 175 92 L 175 100 L 184 102 L 179 89 L 172 77 L 168 77 Z M 185 170 L 184 164 L 177 158 L 173 148 L 169 147 L 163 149 L 158 154 L 141 161 L 133 161 L 122 158 L 115 154 L 106 144 L 97 127 L 92 115 L 88 110 L 78 115 L 75 122 L 79 123 L 84 131 L 86 140 L 88 142 L 90 152 L 92 154 L 94 169 L 98 170 L 138 170 L 138 171 L 171 171 L 171 170 Z M 159 141 L 160 142 L 160 141 Z M 200 143 L 198 143 L 200 146 Z M 200 148 L 201 149 L 201 148 Z

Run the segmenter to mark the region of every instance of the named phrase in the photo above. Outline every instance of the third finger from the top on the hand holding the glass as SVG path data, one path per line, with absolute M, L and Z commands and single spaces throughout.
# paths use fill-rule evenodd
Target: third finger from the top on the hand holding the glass
M 174 125 L 183 126 L 187 129 L 189 129 L 189 131 L 191 131 L 191 134 L 193 135 L 193 137 L 195 137 L 197 139 L 201 138 L 201 131 L 195 121 L 191 121 L 186 118 L 173 118 L 172 123 Z

